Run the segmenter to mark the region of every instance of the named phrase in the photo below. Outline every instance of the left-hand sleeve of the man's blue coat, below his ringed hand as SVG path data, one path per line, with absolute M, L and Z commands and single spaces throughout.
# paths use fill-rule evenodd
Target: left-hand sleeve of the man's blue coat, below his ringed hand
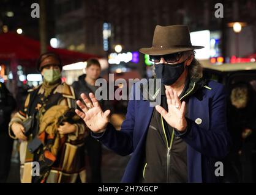
M 122 122 L 121 130 L 116 130 L 111 123 L 108 123 L 104 133 L 91 133 L 92 137 L 96 138 L 119 155 L 125 156 L 131 154 L 134 151 L 134 104 L 135 100 L 130 99 L 127 107 L 126 119 Z

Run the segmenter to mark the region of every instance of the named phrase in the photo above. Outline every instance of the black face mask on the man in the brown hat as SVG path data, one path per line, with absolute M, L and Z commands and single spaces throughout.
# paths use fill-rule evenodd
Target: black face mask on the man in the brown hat
M 171 85 L 183 74 L 184 66 L 184 62 L 177 63 L 176 65 L 159 63 L 155 65 L 156 77 L 157 79 L 161 79 L 164 85 Z

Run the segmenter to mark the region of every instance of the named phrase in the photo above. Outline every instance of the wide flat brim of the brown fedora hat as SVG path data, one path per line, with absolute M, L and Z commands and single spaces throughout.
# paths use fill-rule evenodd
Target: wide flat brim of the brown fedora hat
M 141 48 L 139 51 L 142 54 L 148 55 L 165 55 L 165 54 L 174 54 L 177 52 L 191 51 L 194 49 L 202 49 L 205 48 L 203 46 L 190 46 L 188 48 Z

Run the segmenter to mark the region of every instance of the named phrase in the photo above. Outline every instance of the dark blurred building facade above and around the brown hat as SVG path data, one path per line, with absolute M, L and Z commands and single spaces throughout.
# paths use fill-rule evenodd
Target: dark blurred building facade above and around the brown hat
M 224 18 L 216 18 L 214 5 L 224 5 Z M 187 24 L 190 31 L 221 30 L 224 55 L 234 53 L 232 29 L 227 24 L 243 21 L 241 55 L 255 52 L 255 9 L 253 0 L 165 1 L 165 0 L 59 0 L 56 6 L 56 36 L 63 48 L 104 55 L 102 25 L 111 24 L 110 52 L 116 44 L 124 51 L 151 46 L 154 27 Z M 243 44 L 243 43 L 246 44 Z M 250 46 L 248 46 L 250 43 Z

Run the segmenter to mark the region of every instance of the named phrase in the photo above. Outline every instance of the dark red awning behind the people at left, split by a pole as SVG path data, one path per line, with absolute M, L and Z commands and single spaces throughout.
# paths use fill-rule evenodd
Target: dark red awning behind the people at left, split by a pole
M 99 58 L 97 55 L 84 54 L 67 49 L 55 49 L 50 46 L 48 46 L 48 51 L 56 52 L 61 57 L 63 65 L 86 61 L 91 57 Z M 15 59 L 22 62 L 33 62 L 34 64 L 39 55 L 39 41 L 12 32 L 0 34 L 0 60 Z

